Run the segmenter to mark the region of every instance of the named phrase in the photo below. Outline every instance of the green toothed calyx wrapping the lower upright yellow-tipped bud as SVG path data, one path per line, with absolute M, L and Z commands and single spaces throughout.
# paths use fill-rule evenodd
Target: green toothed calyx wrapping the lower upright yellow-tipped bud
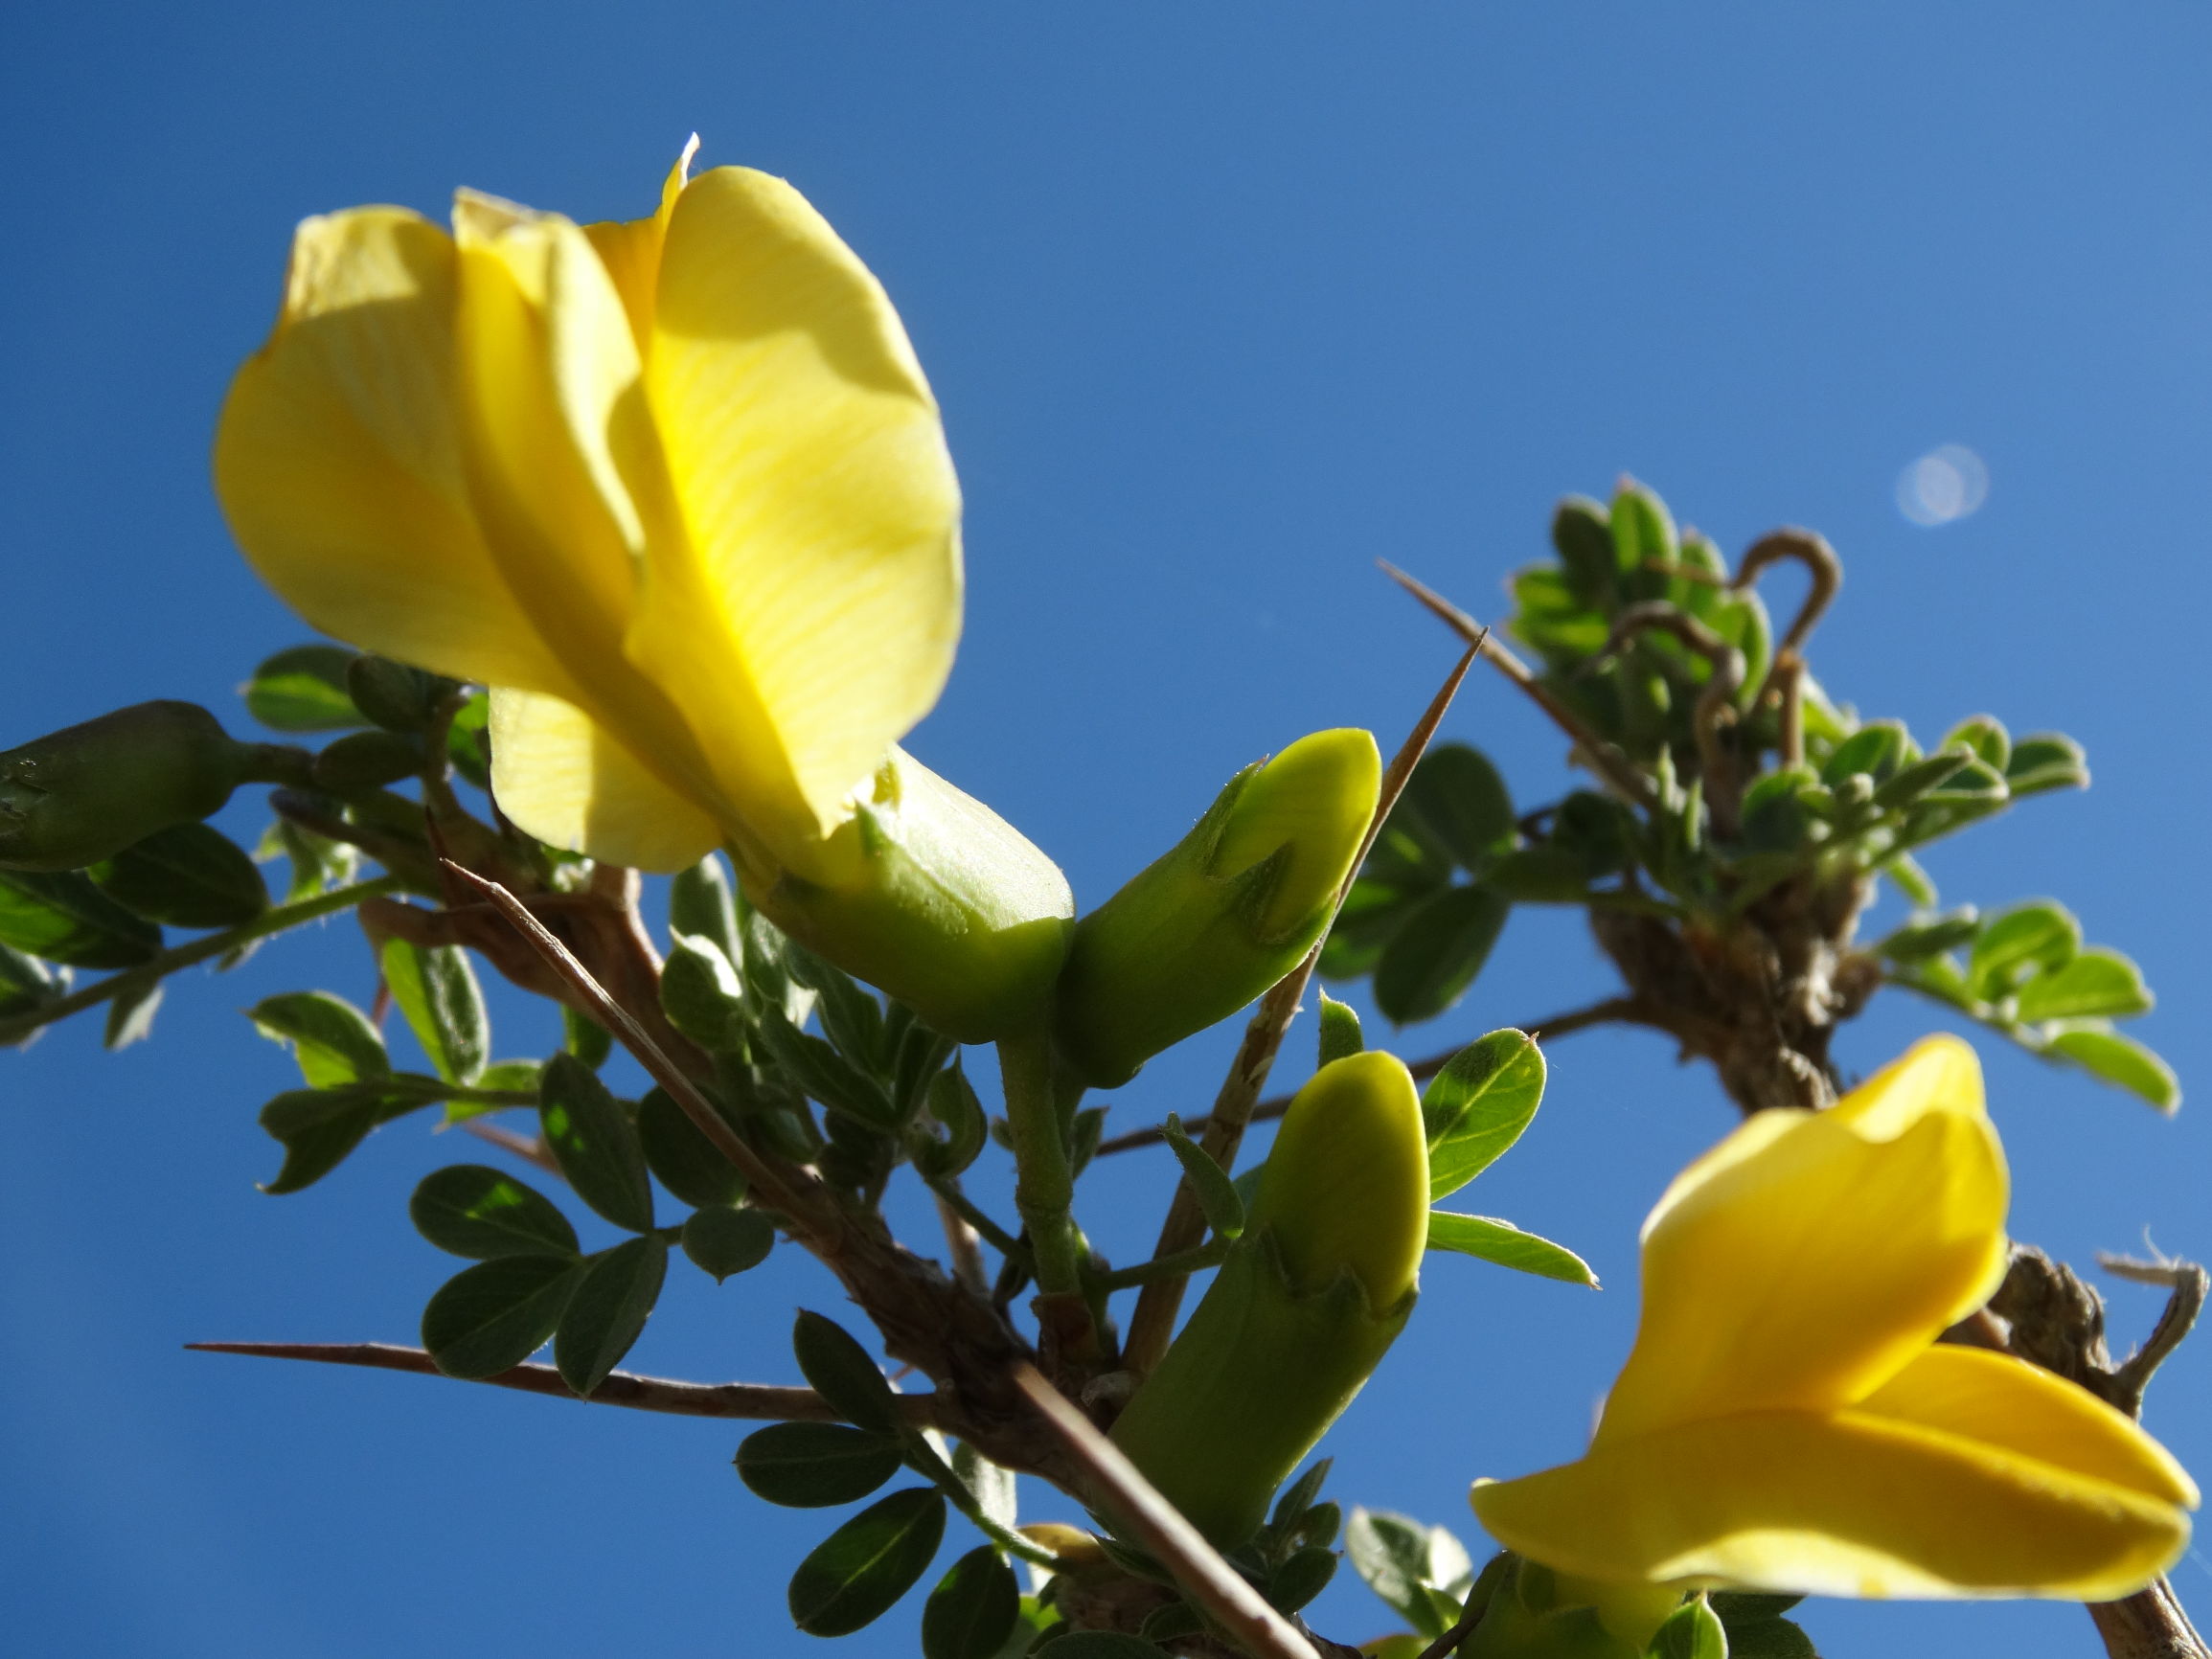
M 1272 1230 L 1237 1241 L 1113 1440 L 1221 1548 L 1267 1504 L 1398 1340 L 1418 1292 L 1376 1310 L 1349 1272 L 1301 1296 Z

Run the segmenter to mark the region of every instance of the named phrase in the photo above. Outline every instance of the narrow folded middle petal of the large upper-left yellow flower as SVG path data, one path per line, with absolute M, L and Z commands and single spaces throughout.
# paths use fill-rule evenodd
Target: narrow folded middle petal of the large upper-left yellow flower
M 462 436 L 493 557 L 568 670 L 566 701 L 730 816 L 684 717 L 624 653 L 646 538 L 675 531 L 613 281 L 557 215 L 460 192 L 453 230 Z

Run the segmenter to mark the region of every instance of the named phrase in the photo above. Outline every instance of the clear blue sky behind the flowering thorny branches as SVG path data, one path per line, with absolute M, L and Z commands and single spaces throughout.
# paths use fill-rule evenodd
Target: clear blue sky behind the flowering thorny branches
M 2090 748 L 2088 796 L 1938 854 L 1949 898 L 2055 891 L 2163 998 L 2212 1088 L 2201 613 L 2212 438 L 2212 20 L 2192 4 L 232 4 L 0 13 L 0 741 L 142 697 L 234 712 L 303 635 L 208 489 L 223 385 L 290 226 L 471 184 L 644 212 L 684 137 L 794 179 L 896 296 L 969 493 L 962 661 L 914 748 L 1095 902 L 1228 772 L 1318 726 L 1394 741 L 1449 644 L 1389 557 L 1489 615 L 1551 502 L 1650 480 L 1739 551 L 1823 529 L 1849 580 L 1816 650 L 1929 734 L 1989 708 Z M 1920 529 L 1893 480 L 1980 451 L 1989 504 Z M 1495 681 L 1451 732 L 1524 799 L 1548 732 Z M 252 807 L 232 821 L 252 827 Z M 810 1655 L 783 1579 L 818 1517 L 752 1500 L 721 1425 L 188 1356 L 190 1338 L 411 1340 L 451 1265 L 405 1197 L 467 1146 L 387 1133 L 325 1186 L 252 1126 L 288 1062 L 232 1009 L 369 967 L 334 927 L 181 984 L 153 1044 L 0 1055 L 0 1601 L 22 1652 L 427 1646 Z M 1473 998 L 1405 1037 L 1604 989 L 1522 914 Z M 502 1051 L 546 1042 L 500 1004 Z M 509 1013 L 511 1011 L 511 1013 Z M 1933 1018 L 1882 1000 L 1871 1068 Z M 1212 1033 L 1126 1091 L 1210 1095 Z M 2205 1104 L 2174 1124 L 1982 1042 L 2015 1230 L 2086 1261 L 2212 1254 Z M 1296 1042 L 1303 1064 L 1303 1037 Z M 2212 1102 L 2212 1095 L 2199 1095 Z M 1336 1495 L 1473 1540 L 1467 1480 L 1573 1455 L 1626 1352 L 1635 1228 L 1730 1124 L 1650 1035 L 1553 1053 L 1475 1208 L 1588 1254 L 1601 1294 L 1447 1259 L 1338 1433 Z M 1117 1259 L 1164 1168 L 1084 1219 Z M 688 1274 L 635 1365 L 783 1380 L 779 1256 Z M 2115 1294 L 2137 1334 L 2154 1298 Z M 2212 1473 L 2212 1343 L 2152 1427 Z M 1044 1493 L 1033 1515 L 1064 1513 Z M 2181 1564 L 2212 1608 L 2212 1571 Z M 1321 1624 L 1387 1628 L 1349 1573 Z M 914 1608 L 854 1652 L 911 1644 Z M 1809 1615 L 1832 1659 L 2095 1652 L 2077 1608 Z

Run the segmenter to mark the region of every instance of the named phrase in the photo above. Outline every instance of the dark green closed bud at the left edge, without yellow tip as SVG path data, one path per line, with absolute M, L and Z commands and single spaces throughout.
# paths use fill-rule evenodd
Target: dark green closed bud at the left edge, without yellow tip
M 254 748 L 197 703 L 133 703 L 0 754 L 0 869 L 82 869 L 217 812 Z

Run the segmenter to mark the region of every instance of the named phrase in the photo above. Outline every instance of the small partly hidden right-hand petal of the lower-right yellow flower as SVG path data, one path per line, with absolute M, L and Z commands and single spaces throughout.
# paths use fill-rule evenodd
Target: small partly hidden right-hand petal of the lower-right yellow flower
M 2081 1385 L 2011 1354 L 1931 1347 L 1854 1413 L 1958 1436 L 2197 1509 L 2197 1482 L 2139 1422 Z

